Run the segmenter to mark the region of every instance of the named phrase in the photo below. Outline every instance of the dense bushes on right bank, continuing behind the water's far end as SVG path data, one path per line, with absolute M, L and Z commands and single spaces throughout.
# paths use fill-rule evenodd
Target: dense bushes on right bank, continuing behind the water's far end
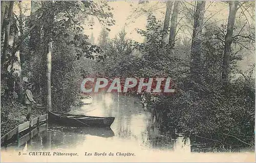
M 125 42 L 120 37 L 124 36 L 124 31 L 119 33 L 118 39 L 101 42 L 107 59 L 98 66 L 104 67 L 104 75 L 172 77 L 175 94 L 141 93 L 144 103 L 156 106 L 161 127 L 176 128 L 191 140 L 213 142 L 213 146 L 253 146 L 254 65 L 248 72 L 240 72 L 239 77 L 231 78 L 227 84 L 222 83 L 226 25 L 209 25 L 203 33 L 202 78 L 196 82 L 189 74 L 189 43 L 177 43 L 174 53 L 171 53 L 172 47 L 160 41 L 161 24 L 154 15 L 148 16 L 146 30 L 138 30 L 145 37 L 143 43 L 127 44 L 129 40 Z M 119 53 L 119 49 L 126 50 Z M 237 61 L 243 58 L 241 50 L 231 49 L 230 73 L 239 72 Z

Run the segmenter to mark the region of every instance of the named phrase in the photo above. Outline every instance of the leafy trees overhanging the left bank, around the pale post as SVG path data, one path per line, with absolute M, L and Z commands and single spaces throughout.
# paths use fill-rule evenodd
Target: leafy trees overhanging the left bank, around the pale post
M 33 6 L 32 6 L 33 9 Z M 22 75 L 17 77 L 13 69 L 7 71 L 2 69 L 2 99 L 5 100 L 16 97 L 9 97 L 10 94 L 17 94 L 22 87 L 15 86 L 21 79 L 26 78 L 26 85 L 30 82 L 34 85 L 34 96 L 37 103 L 45 105 L 46 102 L 46 54 L 50 40 L 53 41 L 52 52 L 52 103 L 56 110 L 67 111 L 70 105 L 75 102 L 75 96 L 79 93 L 77 81 L 82 77 L 77 60 L 89 58 L 102 60 L 101 49 L 92 45 L 88 41 L 88 36 L 83 34 L 81 22 L 96 16 L 105 26 L 113 25 L 112 10 L 106 2 L 42 2 L 42 5 L 30 16 L 25 16 L 25 26 L 23 26 L 24 40 L 16 40 L 14 47 L 9 48 L 9 64 L 17 61 L 12 57 L 17 49 L 17 44 L 22 43 L 23 51 L 19 51 Z M 107 12 L 105 12 L 107 11 Z M 13 19 L 12 21 L 19 21 Z M 7 21 L 7 20 L 6 20 Z M 88 21 L 88 26 L 92 22 Z M 11 26 L 17 33 L 20 29 L 15 29 L 15 23 Z M 106 28 L 108 29 L 108 28 Z M 16 30 L 16 31 L 15 31 Z M 25 35 L 26 34 L 26 35 Z M 4 32 L 2 31 L 2 36 Z M 2 37 L 3 38 L 3 37 Z M 97 53 L 98 55 L 94 55 Z M 8 64 L 7 64 L 8 66 Z M 25 87 L 25 86 L 24 86 Z M 20 98 L 22 98 L 20 96 Z M 20 99 L 22 102 L 23 99 Z

